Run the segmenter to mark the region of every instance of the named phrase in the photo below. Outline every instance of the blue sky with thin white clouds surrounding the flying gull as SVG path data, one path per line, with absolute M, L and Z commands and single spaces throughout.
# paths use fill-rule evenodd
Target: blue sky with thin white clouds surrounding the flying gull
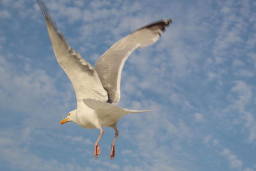
M 35 1 L 0 1 L 0 170 L 256 170 L 256 1 L 45 1 L 70 45 L 94 64 L 113 43 L 171 18 L 122 73 L 114 130 L 60 126 L 76 98 Z

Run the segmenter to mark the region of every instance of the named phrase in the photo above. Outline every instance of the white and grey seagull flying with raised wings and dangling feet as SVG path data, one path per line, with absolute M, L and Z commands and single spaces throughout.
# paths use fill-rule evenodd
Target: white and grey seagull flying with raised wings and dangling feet
M 120 100 L 121 73 L 125 61 L 137 48 L 152 45 L 172 23 L 171 19 L 159 20 L 141 27 L 125 36 L 110 47 L 96 61 L 95 67 L 74 50 L 61 34 L 43 0 L 36 0 L 44 15 L 47 31 L 52 42 L 55 57 L 72 82 L 76 93 L 77 108 L 68 112 L 60 124 L 73 122 L 87 129 L 99 129 L 100 135 L 94 144 L 94 158 L 100 152 L 99 140 L 103 127 L 115 130 L 111 144 L 110 159 L 115 157 L 115 143 L 118 137 L 116 123 L 126 114 L 148 112 L 150 110 L 129 110 L 118 107 Z

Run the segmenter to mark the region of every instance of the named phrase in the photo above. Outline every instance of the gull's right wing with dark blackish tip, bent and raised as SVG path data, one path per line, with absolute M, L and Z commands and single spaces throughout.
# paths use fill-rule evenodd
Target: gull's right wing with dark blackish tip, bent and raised
M 141 27 L 125 36 L 109 48 L 95 63 L 100 81 L 108 91 L 109 103 L 118 103 L 120 99 L 121 72 L 126 59 L 137 48 L 155 43 L 172 20 L 161 20 Z

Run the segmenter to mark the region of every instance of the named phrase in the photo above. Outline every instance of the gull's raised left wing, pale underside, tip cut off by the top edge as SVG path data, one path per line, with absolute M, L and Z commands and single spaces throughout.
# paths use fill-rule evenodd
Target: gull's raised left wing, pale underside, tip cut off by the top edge
M 102 87 L 97 71 L 76 50 L 71 48 L 63 35 L 58 32 L 44 1 L 36 1 L 44 15 L 56 59 L 72 82 L 77 102 L 82 101 L 83 98 L 107 101 L 108 93 Z

